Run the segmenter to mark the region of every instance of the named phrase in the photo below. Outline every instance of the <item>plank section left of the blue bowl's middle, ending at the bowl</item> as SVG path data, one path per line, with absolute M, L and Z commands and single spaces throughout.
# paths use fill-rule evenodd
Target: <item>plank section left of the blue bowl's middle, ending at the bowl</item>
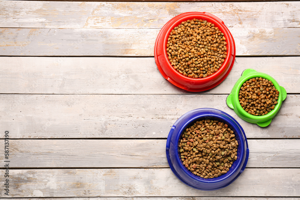
M 166 140 L 35 139 L 9 143 L 11 168 L 169 167 Z

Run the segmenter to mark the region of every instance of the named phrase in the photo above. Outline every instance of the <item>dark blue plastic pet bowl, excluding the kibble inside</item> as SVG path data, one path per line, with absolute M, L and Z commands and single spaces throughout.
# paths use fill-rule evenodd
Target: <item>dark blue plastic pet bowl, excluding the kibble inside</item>
M 237 160 L 233 162 L 226 174 L 217 178 L 205 179 L 192 174 L 183 166 L 179 158 L 178 145 L 180 136 L 187 127 L 202 119 L 212 119 L 226 123 L 234 131 L 235 139 L 238 140 Z M 177 178 L 198 190 L 218 190 L 228 186 L 244 171 L 249 157 L 247 138 L 241 125 L 227 113 L 212 108 L 195 109 L 182 115 L 169 132 L 166 153 L 170 168 Z

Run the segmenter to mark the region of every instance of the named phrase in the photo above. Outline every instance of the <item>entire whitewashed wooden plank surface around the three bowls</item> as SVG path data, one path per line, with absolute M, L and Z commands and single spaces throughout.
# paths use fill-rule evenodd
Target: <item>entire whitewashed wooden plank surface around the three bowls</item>
M 170 84 L 154 61 L 162 26 L 188 11 L 218 16 L 236 45 L 229 76 L 201 93 Z M 298 1 L 0 1 L 0 198 L 300 199 L 299 28 Z M 226 106 L 247 68 L 288 93 L 265 128 Z M 184 185 L 165 154 L 173 123 L 201 107 L 232 115 L 250 149 L 245 171 L 217 191 Z

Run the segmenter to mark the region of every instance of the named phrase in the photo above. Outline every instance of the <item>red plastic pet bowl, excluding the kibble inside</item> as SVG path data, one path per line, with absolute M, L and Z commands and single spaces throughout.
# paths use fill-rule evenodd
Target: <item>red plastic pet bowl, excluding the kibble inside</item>
M 218 27 L 219 30 L 224 33 L 227 43 L 227 57 L 225 58 L 222 66 L 217 72 L 205 78 L 190 78 L 182 75 L 171 65 L 167 54 L 167 41 L 170 32 L 176 26 L 181 24 L 181 22 L 184 22 L 188 19 L 192 20 L 194 18 L 207 20 L 207 22 L 213 23 L 215 27 Z M 158 70 L 161 72 L 161 75 L 173 85 L 191 92 L 205 91 L 219 85 L 229 74 L 235 59 L 235 43 L 228 28 L 218 17 L 206 12 L 182 13 L 168 21 L 158 33 L 155 41 L 154 57 L 155 63 L 158 67 Z

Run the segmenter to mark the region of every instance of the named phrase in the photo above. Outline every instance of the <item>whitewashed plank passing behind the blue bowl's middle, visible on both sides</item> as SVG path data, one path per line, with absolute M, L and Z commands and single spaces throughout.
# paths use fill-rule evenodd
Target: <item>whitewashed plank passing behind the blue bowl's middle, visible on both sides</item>
M 299 167 L 299 139 L 250 139 L 247 167 Z M 80 147 L 80 148 L 78 148 Z M 0 143 L 4 149 L 4 141 Z M 10 140 L 10 168 L 166 168 L 166 140 Z M 0 160 L 4 154 L 0 154 Z M 3 167 L 2 167 L 3 168 Z

